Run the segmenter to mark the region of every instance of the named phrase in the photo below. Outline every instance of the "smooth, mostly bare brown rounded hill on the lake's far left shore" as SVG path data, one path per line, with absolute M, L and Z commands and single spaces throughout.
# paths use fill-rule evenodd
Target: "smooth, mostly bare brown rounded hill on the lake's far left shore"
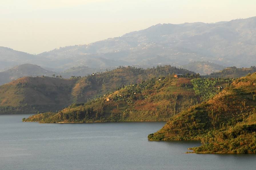
M 73 99 L 76 80 L 52 77 L 23 77 L 0 86 L 0 113 L 33 113 L 59 110 Z

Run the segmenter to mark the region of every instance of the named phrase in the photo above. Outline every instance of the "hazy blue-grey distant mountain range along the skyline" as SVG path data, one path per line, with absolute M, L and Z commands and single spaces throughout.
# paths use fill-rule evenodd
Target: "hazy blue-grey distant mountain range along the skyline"
M 208 61 L 250 67 L 256 62 L 256 17 L 217 23 L 157 24 L 121 37 L 31 55 L 0 48 L 0 67 L 37 64 L 53 71 L 135 65 L 184 65 Z

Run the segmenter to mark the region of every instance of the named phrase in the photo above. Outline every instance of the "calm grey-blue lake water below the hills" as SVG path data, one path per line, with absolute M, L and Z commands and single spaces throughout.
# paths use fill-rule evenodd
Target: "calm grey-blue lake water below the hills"
M 0 169 L 253 169 L 256 155 L 186 154 L 199 142 L 149 142 L 164 122 L 39 124 L 0 115 Z

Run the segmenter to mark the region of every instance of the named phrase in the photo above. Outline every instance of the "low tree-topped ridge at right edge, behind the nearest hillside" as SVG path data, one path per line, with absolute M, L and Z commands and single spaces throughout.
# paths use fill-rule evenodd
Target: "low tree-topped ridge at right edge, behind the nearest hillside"
M 214 72 L 208 75 L 207 77 L 229 77 L 229 78 L 239 78 L 246 76 L 249 73 L 256 72 L 256 67 L 251 66 L 250 68 L 237 68 L 237 67 L 228 67 L 219 72 Z

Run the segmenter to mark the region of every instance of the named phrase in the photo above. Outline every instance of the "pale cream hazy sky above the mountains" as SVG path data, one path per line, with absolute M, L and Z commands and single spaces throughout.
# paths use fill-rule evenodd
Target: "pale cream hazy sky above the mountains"
M 158 23 L 256 16 L 256 0 L 0 0 L 0 46 L 41 53 Z

